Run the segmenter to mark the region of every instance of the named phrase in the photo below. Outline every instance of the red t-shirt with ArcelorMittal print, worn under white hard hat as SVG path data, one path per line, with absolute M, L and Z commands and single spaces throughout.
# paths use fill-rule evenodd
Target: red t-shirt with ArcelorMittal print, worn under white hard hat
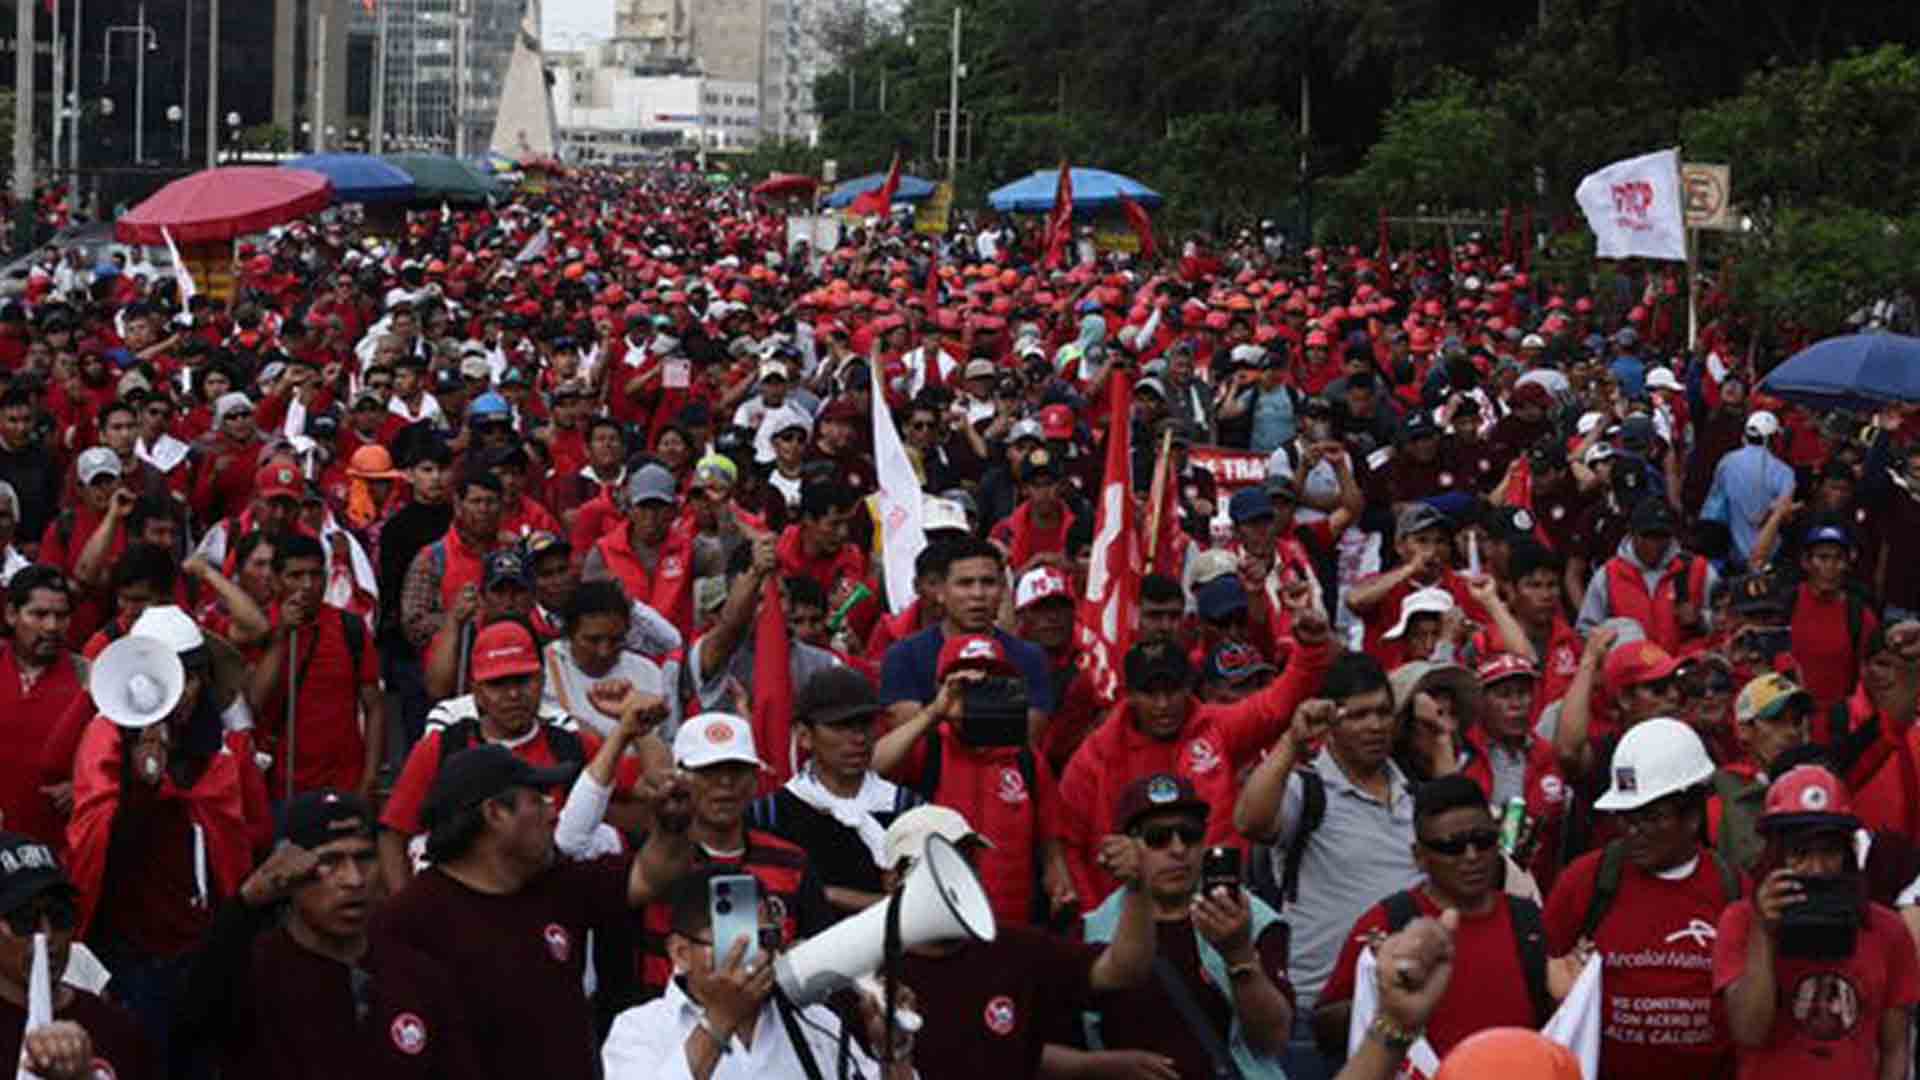
M 1580 936 L 1601 851 L 1576 859 L 1548 897 L 1548 955 Z M 1713 994 L 1713 942 L 1728 897 L 1703 851 L 1670 882 L 1620 869 L 1620 892 L 1594 932 L 1601 974 L 1599 1080 L 1705 1080 L 1726 1076 L 1732 1043 L 1726 1007 Z

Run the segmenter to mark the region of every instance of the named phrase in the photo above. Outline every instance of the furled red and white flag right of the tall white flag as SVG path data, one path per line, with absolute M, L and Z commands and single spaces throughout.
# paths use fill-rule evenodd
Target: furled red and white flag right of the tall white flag
M 1119 700 L 1140 596 L 1140 523 L 1133 511 L 1133 379 L 1108 379 L 1106 480 L 1094 509 L 1092 565 L 1073 636 L 1092 690 Z

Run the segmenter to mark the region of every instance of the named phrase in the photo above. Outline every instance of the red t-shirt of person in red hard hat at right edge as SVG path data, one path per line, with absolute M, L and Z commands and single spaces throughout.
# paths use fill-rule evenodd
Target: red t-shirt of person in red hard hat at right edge
M 1713 990 L 1724 994 L 1747 972 L 1753 901 L 1720 917 L 1713 947 Z M 1866 926 L 1845 963 L 1774 953 L 1774 1026 L 1766 1045 L 1740 1053 L 1740 1080 L 1880 1076 L 1880 1019 L 1920 1003 L 1920 959 L 1893 911 L 1866 909 Z M 1905 1024 L 1905 1017 L 1901 1019 Z

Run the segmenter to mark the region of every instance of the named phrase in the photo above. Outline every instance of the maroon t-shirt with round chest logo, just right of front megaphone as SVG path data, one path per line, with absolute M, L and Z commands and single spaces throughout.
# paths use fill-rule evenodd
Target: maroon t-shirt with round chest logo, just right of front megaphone
M 1029 926 L 1000 926 L 950 957 L 908 955 L 900 976 L 935 1019 L 914 1040 L 920 1080 L 1035 1076 L 1041 1045 L 1058 1042 L 1091 1007 L 1098 945 Z

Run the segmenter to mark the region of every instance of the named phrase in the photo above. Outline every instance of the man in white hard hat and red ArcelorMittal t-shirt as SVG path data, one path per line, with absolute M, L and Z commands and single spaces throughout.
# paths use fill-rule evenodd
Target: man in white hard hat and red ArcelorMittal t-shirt
M 1624 838 L 1576 859 L 1548 897 L 1548 949 L 1592 942 L 1605 965 L 1597 1080 L 1699 1080 L 1732 1065 L 1713 945 L 1745 886 L 1699 842 L 1711 778 L 1693 728 L 1653 719 L 1628 730 L 1594 807 L 1619 815 Z

